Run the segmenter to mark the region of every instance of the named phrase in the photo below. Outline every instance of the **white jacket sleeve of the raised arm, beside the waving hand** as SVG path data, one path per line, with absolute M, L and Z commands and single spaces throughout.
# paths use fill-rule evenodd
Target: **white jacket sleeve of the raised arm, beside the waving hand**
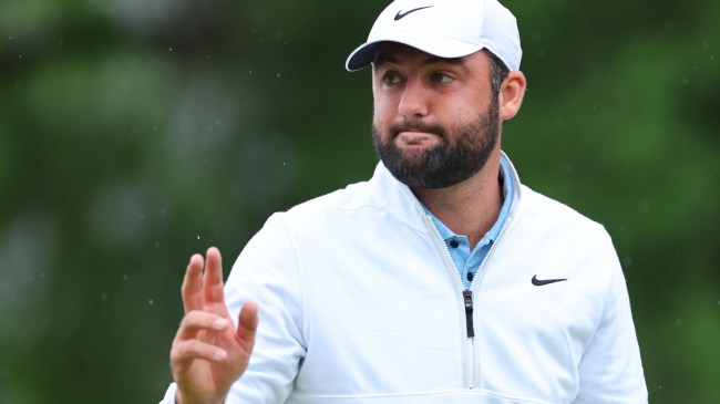
M 260 319 L 248 369 L 226 404 L 285 402 L 305 358 L 302 284 L 284 215 L 272 215 L 248 242 L 225 284 L 234 321 L 247 300 L 257 303 Z

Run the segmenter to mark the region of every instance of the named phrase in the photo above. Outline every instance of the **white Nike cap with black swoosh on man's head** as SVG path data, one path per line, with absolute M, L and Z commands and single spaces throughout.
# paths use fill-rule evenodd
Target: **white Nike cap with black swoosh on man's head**
M 380 13 L 368 41 L 350 54 L 346 69 L 372 63 L 385 41 L 440 58 L 487 49 L 511 71 L 520 70 L 523 56 L 515 17 L 497 0 L 395 0 Z

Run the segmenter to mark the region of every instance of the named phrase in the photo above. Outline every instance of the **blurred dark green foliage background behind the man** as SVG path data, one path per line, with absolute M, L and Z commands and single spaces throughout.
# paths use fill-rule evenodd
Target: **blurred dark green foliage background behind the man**
M 652 403 L 720 403 L 720 2 L 506 0 L 504 149 L 603 222 Z M 191 253 L 368 178 L 385 1 L 0 1 L 0 403 L 153 403 Z

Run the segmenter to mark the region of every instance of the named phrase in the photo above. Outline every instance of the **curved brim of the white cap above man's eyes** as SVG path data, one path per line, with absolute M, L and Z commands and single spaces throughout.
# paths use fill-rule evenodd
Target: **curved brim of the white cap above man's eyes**
M 354 72 L 369 65 L 376 59 L 379 48 L 385 42 L 402 43 L 439 58 L 462 58 L 484 48 L 482 44 L 467 43 L 433 33 L 394 33 L 392 38 L 374 39 L 358 46 L 348 56 L 346 69 Z

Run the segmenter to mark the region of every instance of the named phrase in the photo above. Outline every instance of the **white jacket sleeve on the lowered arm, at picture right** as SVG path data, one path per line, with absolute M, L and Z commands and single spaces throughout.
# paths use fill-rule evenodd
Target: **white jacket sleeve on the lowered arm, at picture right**
M 640 351 L 623 269 L 609 236 L 599 268 L 610 271 L 603 317 L 579 365 L 575 404 L 647 403 Z

